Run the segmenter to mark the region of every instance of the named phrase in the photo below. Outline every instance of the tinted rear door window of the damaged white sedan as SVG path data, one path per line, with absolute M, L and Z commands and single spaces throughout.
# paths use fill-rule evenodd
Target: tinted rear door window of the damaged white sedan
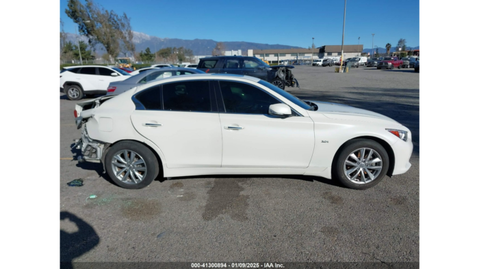
M 163 85 L 164 110 L 211 112 L 209 81 L 185 81 Z

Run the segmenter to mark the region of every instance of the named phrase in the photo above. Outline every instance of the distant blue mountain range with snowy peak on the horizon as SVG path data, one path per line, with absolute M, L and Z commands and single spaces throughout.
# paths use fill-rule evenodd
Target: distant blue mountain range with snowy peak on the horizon
M 78 36 L 73 33 L 67 33 L 67 40 L 70 42 L 76 42 L 77 38 L 84 42 L 88 42 L 88 38 L 85 36 Z M 161 50 L 161 48 L 168 47 L 184 47 L 190 48 L 194 55 L 211 55 L 213 48 L 216 47 L 217 41 L 214 40 L 182 40 L 177 38 L 157 38 L 155 36 L 148 36 L 146 33 L 134 33 L 133 42 L 136 44 L 136 51 L 145 51 L 146 48 L 150 48 L 152 52 Z M 242 53 L 246 55 L 248 49 L 255 50 L 268 50 L 268 49 L 288 49 L 288 48 L 300 48 L 298 46 L 287 46 L 279 44 L 259 44 L 251 42 L 223 42 L 226 46 L 226 50 L 242 50 Z M 95 47 L 96 53 L 103 54 L 105 53 L 105 48 L 102 45 L 97 45 Z

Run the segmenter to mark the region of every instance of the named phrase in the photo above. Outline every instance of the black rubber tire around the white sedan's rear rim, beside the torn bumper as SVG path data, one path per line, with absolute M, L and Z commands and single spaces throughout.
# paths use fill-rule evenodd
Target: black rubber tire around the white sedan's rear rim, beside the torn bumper
M 123 150 L 133 151 L 143 158 L 144 165 L 147 170 L 146 177 L 144 178 L 144 180 L 142 180 L 142 182 L 138 184 L 127 184 L 116 178 L 116 173 L 114 173 L 113 171 L 112 162 L 114 161 L 115 155 Z M 151 152 L 148 147 L 133 141 L 120 142 L 111 147 L 108 150 L 107 156 L 105 157 L 105 167 L 107 169 L 109 177 L 113 180 L 113 182 L 115 182 L 115 184 L 117 184 L 121 188 L 126 188 L 128 190 L 140 190 L 142 188 L 146 188 L 153 182 L 153 180 L 158 177 L 160 172 L 159 162 L 155 154 L 153 154 L 153 152 Z

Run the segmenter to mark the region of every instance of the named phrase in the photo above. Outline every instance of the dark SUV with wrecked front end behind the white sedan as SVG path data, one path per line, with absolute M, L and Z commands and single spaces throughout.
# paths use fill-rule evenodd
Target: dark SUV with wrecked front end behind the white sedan
M 209 74 L 232 74 L 240 76 L 254 76 L 268 81 L 272 85 L 285 89 L 285 87 L 299 87 L 298 80 L 294 78 L 294 66 L 268 66 L 256 57 L 220 56 L 200 59 L 198 70 Z

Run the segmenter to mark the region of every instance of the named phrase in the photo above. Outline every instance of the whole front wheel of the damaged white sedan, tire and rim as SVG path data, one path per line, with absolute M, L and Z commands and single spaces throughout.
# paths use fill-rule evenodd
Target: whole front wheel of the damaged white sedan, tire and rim
M 389 156 L 376 141 L 352 140 L 335 160 L 334 176 L 348 188 L 366 190 L 379 184 L 389 170 Z

